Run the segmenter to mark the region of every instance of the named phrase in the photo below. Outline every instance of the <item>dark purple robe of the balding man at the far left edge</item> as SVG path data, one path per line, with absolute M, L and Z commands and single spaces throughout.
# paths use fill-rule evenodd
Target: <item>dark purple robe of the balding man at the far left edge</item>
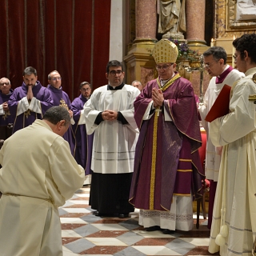
M 10 94 L 2 94 L 0 90 L 0 105 L 4 102 L 8 102 L 10 96 L 14 93 L 14 90 L 10 89 Z M 14 125 L 14 115 L 10 114 L 10 110 L 5 114 L 0 115 L 0 138 L 6 139 L 12 134 L 12 127 Z

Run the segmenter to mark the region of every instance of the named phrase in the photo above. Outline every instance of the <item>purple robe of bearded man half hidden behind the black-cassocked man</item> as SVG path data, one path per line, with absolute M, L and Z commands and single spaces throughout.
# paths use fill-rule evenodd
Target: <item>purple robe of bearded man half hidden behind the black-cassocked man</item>
M 74 101 L 71 103 L 71 110 L 73 111 L 73 118 L 75 122 L 75 124 L 72 126 L 76 139 L 74 158 L 79 165 L 85 168 L 86 175 L 89 175 L 91 174 L 90 163 L 94 134 L 87 135 L 86 125 L 78 125 L 81 110 L 83 110 L 83 106 L 86 102 L 87 99 L 80 94 L 80 96 L 78 98 L 74 98 Z

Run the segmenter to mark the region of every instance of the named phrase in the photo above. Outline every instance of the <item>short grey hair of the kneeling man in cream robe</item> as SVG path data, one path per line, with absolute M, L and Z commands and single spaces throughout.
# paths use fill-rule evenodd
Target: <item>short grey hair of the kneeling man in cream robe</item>
M 63 106 L 52 106 L 46 111 L 42 119 L 45 119 L 54 125 L 64 120 L 66 126 L 70 124 L 70 113 Z

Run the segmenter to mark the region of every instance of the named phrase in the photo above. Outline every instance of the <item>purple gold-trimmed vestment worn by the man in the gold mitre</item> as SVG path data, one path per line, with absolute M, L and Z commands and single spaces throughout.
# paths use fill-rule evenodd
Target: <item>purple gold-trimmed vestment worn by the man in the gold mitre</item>
M 162 88 L 162 112 L 154 111 L 149 120 L 142 120 L 153 88 Z M 194 199 L 200 198 L 204 175 L 198 148 L 202 142 L 191 83 L 177 73 L 163 87 L 159 78 L 148 82 L 134 102 L 134 118 L 140 134 L 130 203 L 144 210 L 170 210 L 173 194 L 192 193 Z

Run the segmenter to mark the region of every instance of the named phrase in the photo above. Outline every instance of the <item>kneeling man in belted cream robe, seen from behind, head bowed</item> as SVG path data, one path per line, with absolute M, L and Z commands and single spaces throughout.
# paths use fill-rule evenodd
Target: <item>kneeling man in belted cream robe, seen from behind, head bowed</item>
M 0 150 L 1 255 L 62 256 L 58 207 L 84 182 L 83 168 L 62 138 L 69 126 L 69 112 L 53 106 L 42 120 L 4 142 Z

